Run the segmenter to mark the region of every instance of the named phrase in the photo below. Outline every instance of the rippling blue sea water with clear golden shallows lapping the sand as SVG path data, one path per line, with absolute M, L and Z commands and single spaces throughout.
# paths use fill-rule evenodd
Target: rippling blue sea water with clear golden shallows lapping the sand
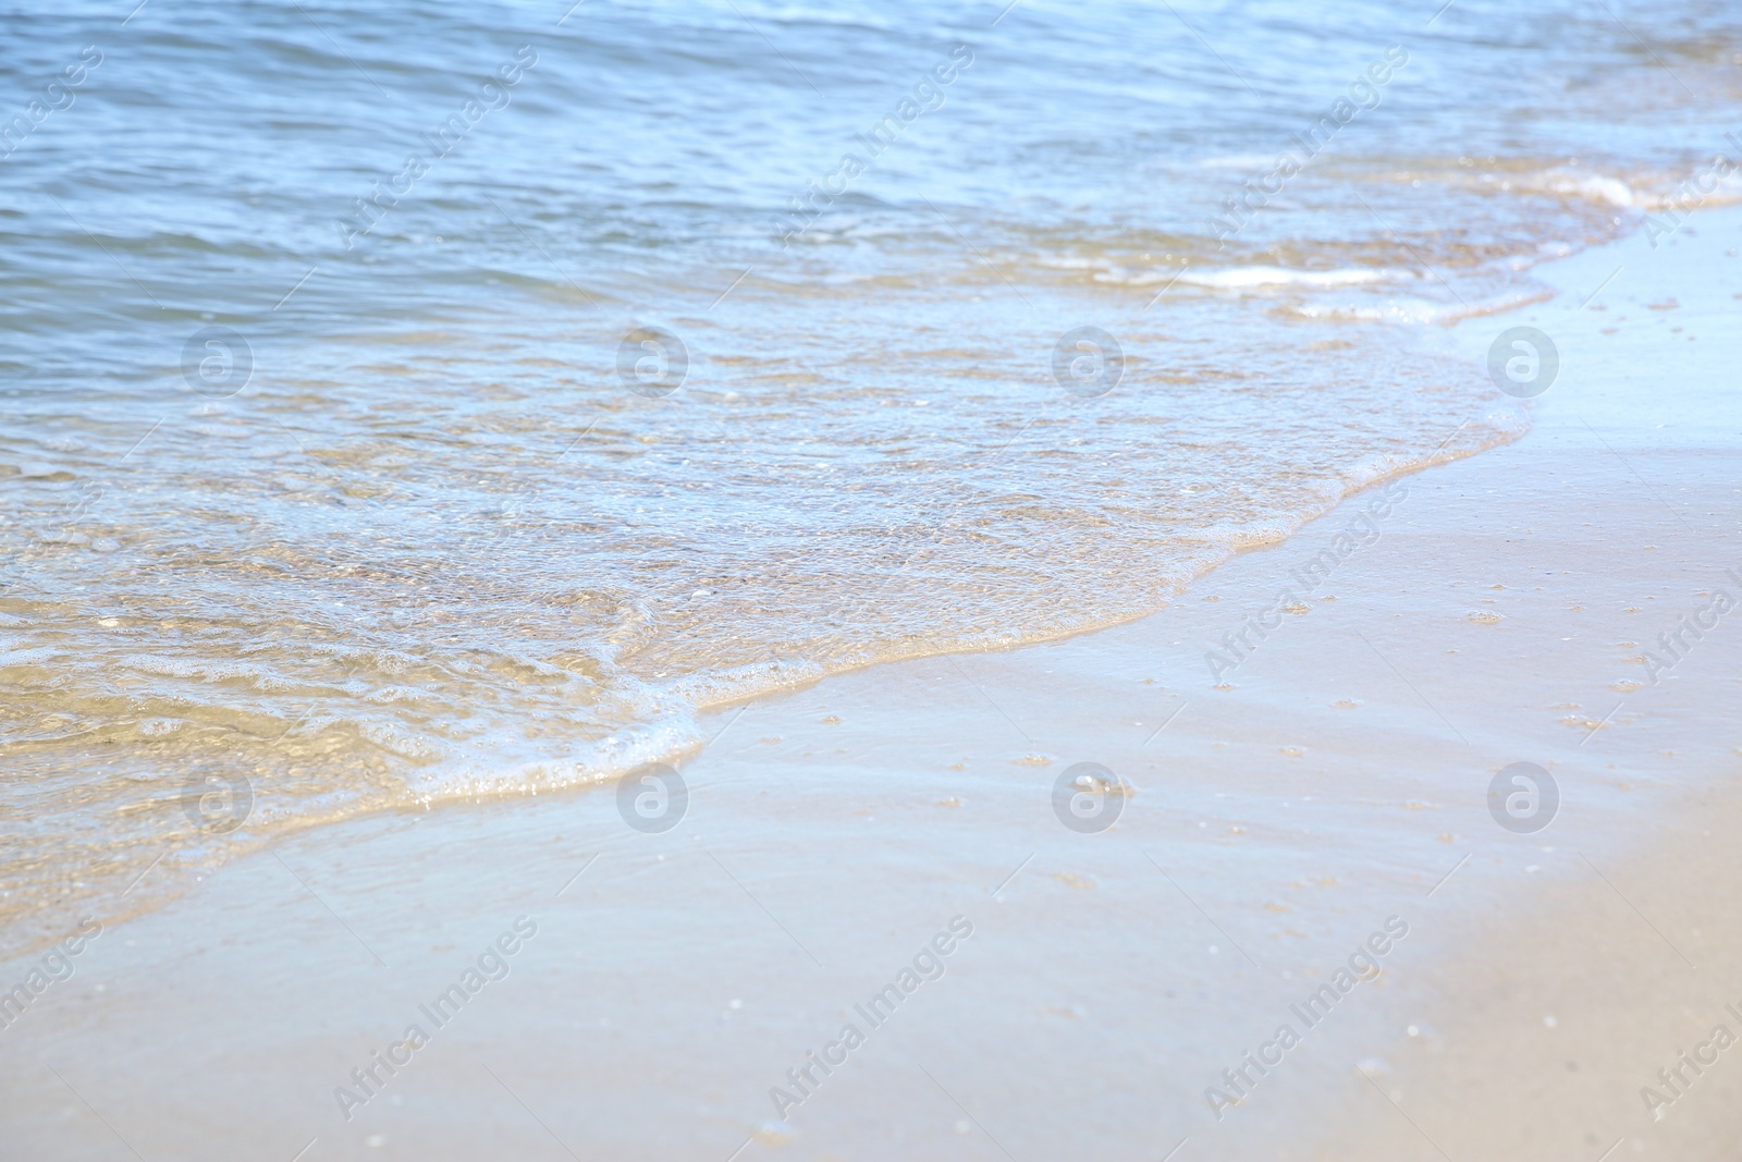
M 1716 3 L 129 7 L 0 16 L 9 944 L 1151 611 L 1739 148 Z

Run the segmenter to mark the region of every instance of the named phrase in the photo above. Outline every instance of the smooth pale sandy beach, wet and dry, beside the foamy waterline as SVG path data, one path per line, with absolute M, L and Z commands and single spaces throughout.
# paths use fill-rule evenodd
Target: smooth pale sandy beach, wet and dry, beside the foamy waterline
M 0 974 L 70 965 L 7 1157 L 1735 1157 L 1739 244 L 1543 267 L 1442 336 L 1552 336 L 1523 439 L 1158 615 L 712 709 L 669 829 L 376 814 L 92 908 Z

